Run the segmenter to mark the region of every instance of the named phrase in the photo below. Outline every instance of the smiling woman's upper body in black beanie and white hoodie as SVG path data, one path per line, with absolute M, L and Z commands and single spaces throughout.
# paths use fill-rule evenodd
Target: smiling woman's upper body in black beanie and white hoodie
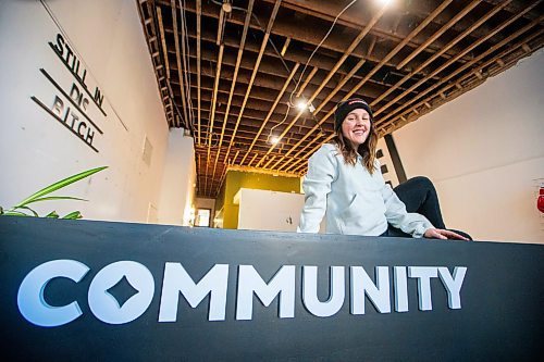
M 334 118 L 334 143 L 323 145 L 309 160 L 298 232 L 318 233 L 326 212 L 327 234 L 398 236 L 388 232 L 391 224 L 416 238 L 467 240 L 455 232 L 435 228 L 419 213 L 407 212 L 385 184 L 375 158 L 372 110 L 364 100 L 341 102 Z

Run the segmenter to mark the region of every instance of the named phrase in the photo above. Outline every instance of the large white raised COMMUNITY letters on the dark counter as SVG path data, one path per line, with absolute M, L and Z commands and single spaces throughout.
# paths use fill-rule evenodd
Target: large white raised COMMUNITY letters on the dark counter
M 300 267 L 301 272 L 299 286 L 296 283 L 297 267 Z M 237 270 L 236 288 L 228 288 L 228 274 L 233 269 Z M 83 315 L 77 301 L 65 305 L 50 305 L 44 294 L 53 278 L 69 278 L 78 283 L 89 271 L 89 266 L 76 260 L 52 260 L 36 266 L 25 276 L 18 288 L 17 305 L 21 314 L 28 322 L 42 327 L 55 327 L 75 321 Z M 181 296 L 191 308 L 196 308 L 209 297 L 208 321 L 225 321 L 230 292 L 236 294 L 237 321 L 254 319 L 254 296 L 259 298 L 264 307 L 269 307 L 277 297 L 279 317 L 293 319 L 297 287 L 301 287 L 301 302 L 306 311 L 317 317 L 330 317 L 338 313 L 347 294 L 349 313 L 354 315 L 366 313 L 367 301 L 370 301 L 379 313 L 391 313 L 392 309 L 395 312 L 408 312 L 409 278 L 417 280 L 419 310 L 433 309 L 432 278 L 440 278 L 442 282 L 441 285 L 447 292 L 449 309 L 460 309 L 460 291 L 467 267 L 455 266 L 450 273 L 445 266 L 375 266 L 375 282 L 363 266 L 330 266 L 329 272 L 330 297 L 326 301 L 321 301 L 318 298 L 318 266 L 314 265 L 281 265 L 273 277 L 265 282 L 254 265 L 233 267 L 228 264 L 214 264 L 200 280 L 195 282 L 182 263 L 166 262 L 161 280 L 158 322 L 183 321 L 183 316 L 178 315 Z M 348 288 L 346 276 L 349 277 Z M 123 278 L 134 288 L 135 295 L 120 304 L 108 290 Z M 90 282 L 87 294 L 89 309 L 104 323 L 129 323 L 148 310 L 154 296 L 154 284 L 153 275 L 141 263 L 118 261 L 108 264 Z M 393 308 L 391 290 L 394 292 Z

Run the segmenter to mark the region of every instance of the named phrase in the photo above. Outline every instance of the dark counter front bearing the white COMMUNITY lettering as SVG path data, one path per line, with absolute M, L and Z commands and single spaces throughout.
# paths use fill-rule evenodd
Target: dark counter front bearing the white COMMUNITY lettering
M 0 217 L 18 359 L 543 355 L 544 247 Z

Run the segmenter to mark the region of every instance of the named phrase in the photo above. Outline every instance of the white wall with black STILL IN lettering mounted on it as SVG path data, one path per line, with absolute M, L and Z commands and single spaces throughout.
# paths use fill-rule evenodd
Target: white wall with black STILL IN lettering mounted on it
M 59 95 L 39 68 L 70 92 L 74 76 L 48 45 L 61 30 L 38 1 L 0 1 L 0 204 L 10 207 L 50 183 L 108 165 L 58 192 L 89 202 L 54 201 L 37 209 L 145 222 L 150 204 L 159 208 L 168 125 L 136 3 L 58 0 L 47 5 L 84 62 L 89 89 L 98 86 L 104 95 L 107 116 L 92 102 L 86 111 L 103 135 L 95 135 L 97 153 L 30 99 L 51 108 Z M 149 165 L 143 161 L 146 136 L 152 145 Z

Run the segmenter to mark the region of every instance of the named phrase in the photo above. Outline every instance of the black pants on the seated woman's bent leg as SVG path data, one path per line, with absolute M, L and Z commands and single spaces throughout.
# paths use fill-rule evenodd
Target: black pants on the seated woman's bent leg
M 408 179 L 393 189 L 400 201 L 406 204 L 406 211 L 417 212 L 425 216 L 436 228 L 446 228 L 442 219 L 438 195 L 433 183 L 423 176 Z M 472 239 L 468 234 L 455 230 L 456 233 Z M 385 236 L 411 237 L 411 235 L 390 225 Z

